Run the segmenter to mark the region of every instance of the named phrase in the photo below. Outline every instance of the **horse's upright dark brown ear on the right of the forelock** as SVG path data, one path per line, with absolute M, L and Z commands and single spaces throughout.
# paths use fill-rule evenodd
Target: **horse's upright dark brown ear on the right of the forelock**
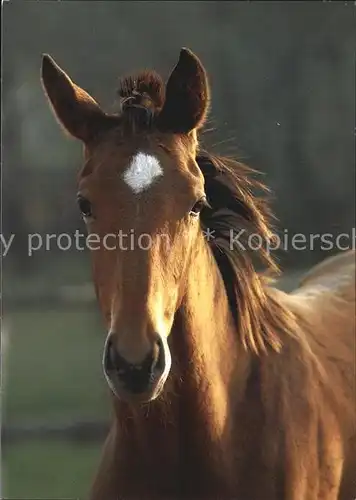
M 193 52 L 182 48 L 166 85 L 166 99 L 157 117 L 158 127 L 189 133 L 204 125 L 208 108 L 209 83 L 204 66 Z

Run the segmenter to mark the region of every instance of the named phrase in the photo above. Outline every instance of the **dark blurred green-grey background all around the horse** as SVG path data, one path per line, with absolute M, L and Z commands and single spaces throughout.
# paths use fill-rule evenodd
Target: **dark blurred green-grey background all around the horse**
M 104 327 L 86 252 L 28 256 L 29 233 L 84 231 L 81 146 L 40 85 L 49 53 L 106 111 L 120 75 L 167 77 L 182 46 L 210 76 L 203 142 L 263 173 L 280 231 L 355 226 L 354 2 L 4 2 L 2 494 L 81 497 L 109 418 Z M 334 249 L 332 252 L 336 252 Z M 332 253 L 331 252 L 331 253 Z M 285 286 L 325 250 L 279 255 Z

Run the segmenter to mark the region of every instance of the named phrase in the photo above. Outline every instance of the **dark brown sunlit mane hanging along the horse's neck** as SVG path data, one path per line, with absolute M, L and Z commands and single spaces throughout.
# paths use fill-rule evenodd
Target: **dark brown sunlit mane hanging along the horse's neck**
M 279 332 L 290 331 L 293 321 L 291 314 L 267 293 L 268 275 L 279 273 L 267 245 L 273 239 L 274 219 L 269 191 L 254 177 L 257 172 L 233 159 L 202 152 L 197 163 L 210 205 L 201 212 L 201 222 L 203 230 L 213 235 L 209 245 L 242 343 L 256 354 L 268 348 L 279 351 Z M 257 196 L 254 191 L 262 194 Z M 240 231 L 243 236 L 232 244 L 231 235 Z M 264 242 L 256 250 L 248 247 L 253 235 L 259 243 Z M 265 273 L 257 272 L 259 265 Z

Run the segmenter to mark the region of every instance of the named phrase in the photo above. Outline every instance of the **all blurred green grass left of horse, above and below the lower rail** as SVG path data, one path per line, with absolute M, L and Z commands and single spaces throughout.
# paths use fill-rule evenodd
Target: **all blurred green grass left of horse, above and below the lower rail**
M 97 310 L 41 309 L 7 315 L 10 343 L 3 424 L 107 419 L 102 375 L 105 331 Z M 2 494 L 9 499 L 85 498 L 102 442 L 26 440 L 2 449 Z

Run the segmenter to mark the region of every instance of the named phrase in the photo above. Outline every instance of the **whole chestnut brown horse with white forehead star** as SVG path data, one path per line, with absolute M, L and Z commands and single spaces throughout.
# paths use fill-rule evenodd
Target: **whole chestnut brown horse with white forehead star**
M 209 86 L 191 51 L 167 84 L 125 78 L 116 115 L 48 55 L 42 82 L 84 144 L 78 202 L 100 242 L 114 418 L 90 498 L 353 499 L 354 253 L 291 294 L 257 272 L 275 267 L 248 244 L 271 238 L 263 186 L 198 148 Z

